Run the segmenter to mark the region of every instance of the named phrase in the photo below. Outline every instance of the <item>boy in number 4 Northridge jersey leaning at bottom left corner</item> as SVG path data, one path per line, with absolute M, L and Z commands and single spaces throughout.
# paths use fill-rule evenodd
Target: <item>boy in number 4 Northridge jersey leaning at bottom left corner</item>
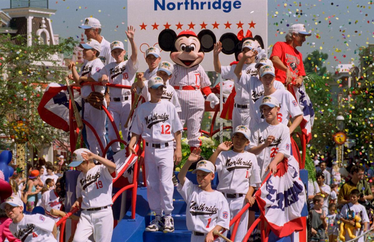
M 18 197 L 9 197 L 0 205 L 12 219 L 9 230 L 22 242 L 56 242 L 57 227 L 53 219 L 41 214 L 23 214 L 24 204 Z

